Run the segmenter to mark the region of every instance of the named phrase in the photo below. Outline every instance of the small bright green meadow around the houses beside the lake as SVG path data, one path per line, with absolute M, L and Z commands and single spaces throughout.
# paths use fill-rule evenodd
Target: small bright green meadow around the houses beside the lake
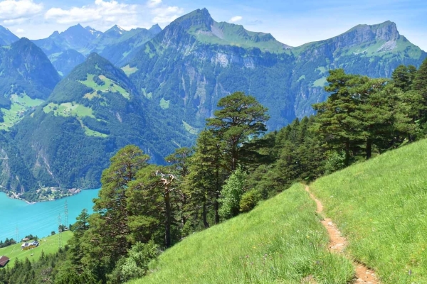
M 62 244 L 65 246 L 67 241 L 71 239 L 73 233 L 70 231 L 64 231 L 61 233 Z M 41 251 L 44 253 L 56 253 L 58 251 L 58 234 L 53 236 L 48 236 L 47 238 L 41 238 L 39 241 L 40 245 L 35 249 L 29 249 L 27 251 L 21 251 L 21 244 L 16 244 L 14 246 L 7 246 L 6 248 L 0 249 L 0 256 L 7 256 L 10 258 L 10 262 L 7 265 L 8 267 L 14 266 L 16 258 L 19 258 L 20 261 L 23 261 L 26 257 L 30 261 L 36 261 L 41 256 Z M 31 256 L 31 253 L 33 256 Z

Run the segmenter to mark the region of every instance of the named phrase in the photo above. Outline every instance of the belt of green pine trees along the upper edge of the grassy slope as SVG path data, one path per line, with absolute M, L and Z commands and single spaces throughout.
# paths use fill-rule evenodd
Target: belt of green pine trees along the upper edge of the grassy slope
M 313 106 L 317 114 L 280 131 L 265 134 L 267 109 L 236 92 L 219 100 L 194 148 L 177 149 L 167 166 L 149 165 L 137 146 L 122 148 L 102 173 L 94 214 L 82 212 L 71 227 L 70 249 L 51 283 L 142 277 L 163 249 L 251 210 L 293 182 L 426 136 L 427 60 L 419 70 L 399 66 L 391 80 L 338 69 L 327 82 L 330 97 Z

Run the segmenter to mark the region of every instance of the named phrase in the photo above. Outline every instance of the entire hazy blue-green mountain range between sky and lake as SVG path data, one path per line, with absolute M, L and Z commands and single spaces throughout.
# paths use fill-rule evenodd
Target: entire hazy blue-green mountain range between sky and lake
M 206 9 L 163 30 L 77 25 L 31 41 L 0 27 L 0 45 L 0 185 L 19 192 L 97 187 L 128 143 L 164 163 L 232 92 L 268 107 L 276 130 L 327 98 L 330 69 L 390 77 L 427 57 L 390 21 L 291 47 Z

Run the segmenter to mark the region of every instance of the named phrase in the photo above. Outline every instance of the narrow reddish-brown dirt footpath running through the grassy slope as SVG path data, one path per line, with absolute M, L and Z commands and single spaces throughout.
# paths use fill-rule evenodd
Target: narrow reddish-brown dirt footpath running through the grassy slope
M 306 186 L 305 190 L 310 194 L 312 200 L 315 200 L 317 204 L 317 214 L 322 214 L 324 219 L 322 220 L 323 226 L 327 229 L 327 234 L 330 236 L 329 249 L 333 253 L 342 253 L 344 256 L 344 249 L 347 246 L 347 239 L 342 236 L 337 225 L 332 222 L 332 219 L 325 218 L 323 215 L 323 205 L 320 200 L 310 192 L 310 187 Z M 348 258 L 348 256 L 346 256 Z M 351 260 L 352 261 L 352 260 Z M 374 271 L 364 266 L 363 263 L 358 263 L 353 261 L 353 265 L 356 268 L 356 278 L 357 280 L 354 283 L 364 283 L 364 284 L 379 284 L 379 280 L 376 278 Z

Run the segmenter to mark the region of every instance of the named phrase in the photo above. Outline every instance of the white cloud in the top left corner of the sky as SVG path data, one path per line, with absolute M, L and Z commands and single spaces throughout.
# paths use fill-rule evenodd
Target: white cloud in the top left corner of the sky
M 14 25 L 22 23 L 43 10 L 43 4 L 33 0 L 4 0 L 0 1 L 0 21 Z

